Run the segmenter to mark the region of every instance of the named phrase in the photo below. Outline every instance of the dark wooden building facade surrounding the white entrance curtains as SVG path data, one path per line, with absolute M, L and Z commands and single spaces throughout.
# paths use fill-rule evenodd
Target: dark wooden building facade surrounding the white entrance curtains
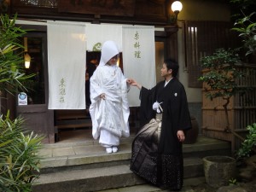
M 234 137 L 230 137 L 230 133 L 224 132 L 222 127 L 223 122 L 219 125 L 210 125 L 211 122 L 217 123 L 218 120 L 215 120 L 215 117 L 213 117 L 212 113 L 215 112 L 210 113 L 208 109 L 206 110 L 206 99 L 204 98 L 204 93 L 201 93 L 202 84 L 198 81 L 198 77 L 201 75 L 199 63 L 201 56 L 211 55 L 214 49 L 220 47 L 227 48 L 231 45 L 236 47 L 238 43 L 235 38 L 236 35 L 230 34 L 230 27 L 232 27 L 233 23 L 230 23 L 229 19 L 224 18 L 221 14 L 212 10 L 211 7 L 215 3 L 217 4 L 215 8 L 223 6 L 226 9 L 228 7 L 226 4 L 227 1 L 196 0 L 192 2 L 184 0 L 187 5 L 191 6 L 192 3 L 195 3 L 195 7 L 198 8 L 191 8 L 190 15 L 186 16 L 188 19 L 180 20 L 182 25 L 179 26 L 177 26 L 176 20 L 173 21 L 174 13 L 171 9 L 171 5 L 174 2 L 173 0 L 4 0 L 4 2 L 5 3 L 0 7 L 2 13 L 9 15 L 15 15 L 15 13 L 17 13 L 18 19 L 20 20 L 38 21 L 38 23 L 45 23 L 46 20 L 65 20 L 88 22 L 92 24 L 110 23 L 155 26 L 155 44 L 163 44 L 164 57 L 172 58 L 175 61 L 177 61 L 178 58 L 184 58 L 183 66 L 181 66 L 183 72 L 180 78 L 183 79 L 183 75 L 188 76 L 186 77 L 188 82 L 185 84 L 188 90 L 188 96 L 192 97 L 192 94 L 194 94 L 195 97 L 197 96 L 196 101 L 199 99 L 202 100 L 200 101 L 200 107 L 194 109 L 194 111 L 201 110 L 202 112 L 198 115 L 202 119 L 201 122 L 199 122 L 199 124 L 202 125 L 201 132 L 207 137 L 224 139 L 235 143 Z M 210 2 L 209 6 L 206 6 L 208 2 Z M 201 7 L 199 7 L 199 5 Z M 188 10 L 188 8 L 186 8 L 186 10 Z M 192 10 L 196 11 L 193 12 Z M 206 12 L 209 12 L 210 16 L 205 16 L 204 14 Z M 213 15 L 213 12 L 215 15 Z M 195 15 L 201 15 L 203 18 L 198 19 Z M 39 72 L 38 79 L 40 79 L 40 81 L 38 83 L 40 85 L 37 91 L 39 94 L 34 96 L 33 102 L 26 106 L 18 106 L 16 103 L 17 98 L 12 98 L 4 102 L 6 108 L 13 109 L 14 117 L 22 115 L 27 119 L 26 123 L 28 127 L 31 127 L 32 130 L 38 133 L 44 134 L 46 136 L 45 143 L 55 143 L 57 140 L 55 137 L 55 133 L 57 132 L 56 123 L 58 120 L 68 115 L 65 113 L 60 115 L 58 111 L 48 109 L 47 27 L 45 24 L 37 26 L 22 24 L 21 26 L 27 29 L 34 29 L 32 32 L 28 32 L 26 37 L 28 38 L 29 46 L 31 46 L 31 54 L 35 58 L 38 58 L 38 67 L 30 70 L 32 70 L 32 73 Z M 160 30 L 158 30 L 158 28 Z M 178 40 L 180 40 L 180 38 L 178 39 L 178 32 L 180 31 L 183 31 L 183 42 L 178 42 Z M 183 49 L 179 49 L 181 50 L 179 53 L 178 44 L 182 44 L 183 46 Z M 197 94 L 195 94 L 195 92 Z M 192 94 L 190 95 L 189 93 Z M 9 96 L 9 98 L 10 97 L 11 96 Z M 234 101 L 236 100 L 237 99 Z M 214 102 L 207 101 L 207 105 L 211 105 L 213 110 L 216 106 L 215 104 Z M 195 103 L 195 105 L 197 105 L 197 103 Z M 238 107 L 232 107 L 234 111 L 232 122 L 234 122 L 234 127 L 236 125 L 236 129 L 239 131 L 244 129 L 247 123 L 251 123 L 251 121 L 242 124 L 241 122 L 237 122 L 238 114 L 236 114 L 236 111 L 237 108 L 241 108 L 241 105 L 243 105 L 243 102 L 241 102 Z M 253 106 L 251 110 L 254 114 L 255 106 Z M 197 111 L 195 113 L 197 113 Z M 242 112 L 239 112 L 241 120 L 244 119 L 241 115 L 243 112 L 244 108 Z M 192 115 L 194 114 L 192 113 Z M 133 111 L 131 108 L 131 120 L 136 119 L 136 116 L 137 111 Z M 222 119 L 221 116 L 218 116 L 218 119 Z M 75 118 L 71 120 L 80 121 L 81 119 L 79 119 L 79 114 L 75 114 Z

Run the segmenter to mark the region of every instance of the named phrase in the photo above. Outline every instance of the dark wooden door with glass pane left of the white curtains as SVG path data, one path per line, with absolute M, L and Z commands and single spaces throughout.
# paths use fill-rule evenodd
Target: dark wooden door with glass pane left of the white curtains
M 32 26 L 28 26 L 32 27 Z M 26 28 L 26 27 L 25 27 Z M 44 143 L 55 143 L 54 113 L 48 109 L 48 60 L 46 27 L 38 32 L 27 32 L 23 39 L 30 65 L 24 65 L 26 74 L 34 74 L 24 82 L 27 103 L 20 105 L 15 98 L 15 116 L 25 119 L 25 127 L 38 135 L 44 135 Z

